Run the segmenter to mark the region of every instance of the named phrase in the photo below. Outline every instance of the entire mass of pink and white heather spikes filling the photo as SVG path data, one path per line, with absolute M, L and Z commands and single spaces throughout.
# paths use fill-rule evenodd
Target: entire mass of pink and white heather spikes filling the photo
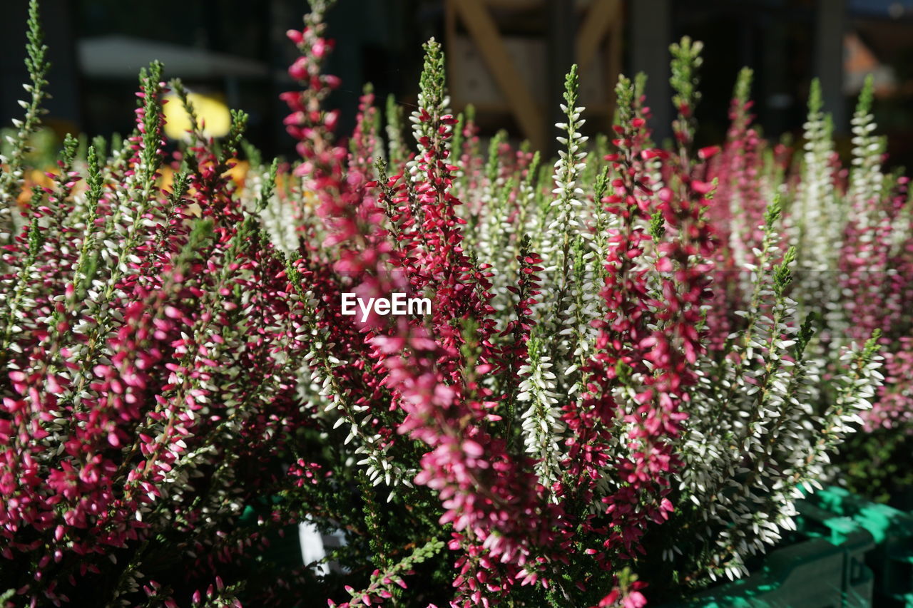
M 764 146 L 744 75 L 728 142 L 695 151 L 685 38 L 671 148 L 642 76 L 588 142 L 572 68 L 549 166 L 502 134 L 482 151 L 431 40 L 408 119 L 368 88 L 343 138 L 327 8 L 289 32 L 295 162 L 259 162 L 242 112 L 205 138 L 153 64 L 131 136 L 68 138 L 19 209 L 47 68 L 31 3 L 0 173 L 8 605 L 642 606 L 745 573 L 845 435 L 906 420 L 909 205 L 866 95 L 850 187 L 820 117 L 795 167 Z M 194 117 L 176 150 L 168 89 Z M 846 197 L 819 257 L 837 229 L 813 205 Z M 802 272 L 825 261 L 843 282 Z M 343 305 L 396 293 L 430 308 Z M 345 542 L 283 560 L 301 522 Z

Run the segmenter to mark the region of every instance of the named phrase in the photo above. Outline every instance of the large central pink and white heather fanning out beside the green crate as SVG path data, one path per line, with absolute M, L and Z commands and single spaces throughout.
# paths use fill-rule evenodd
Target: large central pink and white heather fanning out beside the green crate
M 305 58 L 320 44 L 307 34 L 294 36 Z M 584 599 L 588 589 L 574 599 L 577 583 L 599 581 L 604 569 L 597 584 L 620 585 L 625 561 L 644 576 L 662 571 L 660 592 L 740 576 L 750 555 L 791 528 L 800 488 L 818 482 L 880 378 L 875 342 L 847 344 L 830 401 L 810 411 L 822 363 L 805 356 L 813 324 L 790 297 L 795 249 L 779 247 L 782 203 L 767 192 L 753 199 L 764 245 L 747 309 L 735 315 L 746 322 L 732 325 L 719 348 L 705 347 L 708 333 L 719 332 L 704 319 L 717 256 L 705 216 L 720 180 L 699 176 L 718 151 L 691 150 L 700 46 L 686 39 L 672 50 L 677 149 L 652 146 L 638 85 L 621 79 L 617 152 L 589 154 L 572 69 L 566 120 L 557 125 L 564 149 L 550 178 L 537 155 L 511 150 L 501 136 L 488 160 L 479 158 L 471 122 L 446 109 L 443 59 L 429 43 L 411 118 L 418 149 L 398 168 L 378 163 L 376 202 L 351 190 L 355 167 L 363 171 L 378 149 L 376 133 L 356 132 L 362 147 L 350 148 L 348 173 L 328 168 L 315 180 L 316 151 L 330 154 L 329 130 L 314 123 L 320 114 L 305 111 L 315 94 L 289 95 L 291 132 L 306 156 L 300 173 L 313 180 L 304 187 L 320 193 L 317 214 L 344 235 L 331 230 L 329 240 L 360 244 L 353 257 L 338 254 L 337 267 L 365 271 L 371 260 L 373 272 L 360 278 L 373 289 L 366 295 L 400 281 L 434 298 L 430 331 L 420 320 L 397 320 L 396 334 L 369 339 L 381 345 L 370 357 L 374 370 L 378 355 L 389 357 L 393 407 L 404 400 L 407 414 L 401 434 L 435 448 L 415 481 L 445 498 L 442 521 L 455 529 L 449 548 L 465 551 L 456 561 L 457 605 L 494 603 L 505 592 L 530 597 L 535 588 L 517 590 L 518 582 L 548 585 L 544 601 L 557 605 L 595 602 L 598 594 Z M 369 101 L 360 129 L 373 124 Z M 388 135 L 402 154 L 401 134 Z M 332 173 L 347 174 L 345 186 L 323 179 Z M 585 183 L 583 175 L 595 178 Z M 736 185 L 749 193 L 755 184 Z M 349 196 L 353 203 L 341 204 Z M 338 424 L 352 420 L 345 414 Z M 354 441 L 366 421 L 352 426 Z M 383 475 L 385 485 L 397 485 L 385 466 L 361 464 L 375 481 Z M 497 480 L 488 469 L 498 470 Z M 645 547 L 655 551 L 636 556 Z M 656 570 L 651 564 L 663 558 L 668 565 Z

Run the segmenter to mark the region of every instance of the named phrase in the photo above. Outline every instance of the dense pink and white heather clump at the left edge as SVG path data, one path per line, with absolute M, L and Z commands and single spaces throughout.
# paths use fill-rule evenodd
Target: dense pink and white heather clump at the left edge
M 239 516 L 305 471 L 324 476 L 289 444 L 309 427 L 287 356 L 299 315 L 257 228 L 275 166 L 239 199 L 225 174 L 241 113 L 218 150 L 194 133 L 169 159 L 153 64 L 131 136 L 84 160 L 68 137 L 52 183 L 33 185 L 14 221 L 46 84 L 35 2 L 28 29 L 32 102 L 0 180 L 5 601 L 238 603 L 262 567 L 243 556 L 268 542 L 266 524 L 290 520 L 281 505 L 252 526 Z

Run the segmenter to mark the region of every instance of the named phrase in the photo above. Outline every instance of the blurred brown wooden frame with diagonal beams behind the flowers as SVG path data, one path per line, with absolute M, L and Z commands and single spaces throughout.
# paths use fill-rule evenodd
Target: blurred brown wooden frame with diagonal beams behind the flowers
M 508 114 L 547 150 L 564 74 L 577 63 L 582 104 L 611 119 L 623 13 L 622 0 L 446 0 L 455 106 Z

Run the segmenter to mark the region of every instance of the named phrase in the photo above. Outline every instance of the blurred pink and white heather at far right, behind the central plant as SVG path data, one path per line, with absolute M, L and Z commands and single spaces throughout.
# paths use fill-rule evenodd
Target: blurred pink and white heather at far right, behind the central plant
M 753 274 L 740 269 L 754 270 L 768 234 L 759 229 L 763 205 L 757 194 L 777 194 L 783 220 L 776 237 L 795 247 L 790 296 L 798 314 L 815 328 L 806 345 L 817 360 L 818 376 L 814 393 L 806 400 L 810 413 L 834 403 L 845 379 L 841 352 L 846 344 L 862 343 L 877 333 L 885 359 L 885 382 L 873 407 L 861 412 L 854 425 L 861 425 L 864 432 L 849 440 L 838 457 L 839 466 L 826 467 L 823 478 L 887 499 L 913 481 L 904 449 L 913 405 L 913 325 L 905 304 L 913 295 L 908 178 L 883 168 L 885 142 L 876 135 L 871 114 L 872 79 L 866 79 L 853 116 L 848 167 L 834 152 L 833 127 L 817 81 L 811 87 L 803 153 L 792 166 L 789 150 L 782 145 L 771 149 L 750 127 L 749 87 L 746 71 L 733 97 L 729 141 L 711 167 L 711 174 L 727 186 L 717 194 L 722 204 L 712 218 L 719 234 L 727 236 L 718 264 L 740 276 L 715 294 L 722 299 L 719 310 L 729 312 L 711 319 L 728 330 L 744 325 L 745 320 L 736 319 L 732 311 L 750 299 Z

